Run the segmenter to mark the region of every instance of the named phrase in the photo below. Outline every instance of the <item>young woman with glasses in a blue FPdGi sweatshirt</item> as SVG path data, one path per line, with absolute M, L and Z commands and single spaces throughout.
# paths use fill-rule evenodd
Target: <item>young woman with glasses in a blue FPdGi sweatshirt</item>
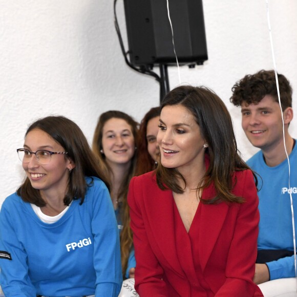
M 0 213 L 6 297 L 117 296 L 120 247 L 107 179 L 71 120 L 30 125 L 17 150 L 26 179 Z

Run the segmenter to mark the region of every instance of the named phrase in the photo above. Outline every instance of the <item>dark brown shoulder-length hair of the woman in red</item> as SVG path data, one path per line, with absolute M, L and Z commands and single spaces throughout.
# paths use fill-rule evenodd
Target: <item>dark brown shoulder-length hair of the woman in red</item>
M 161 109 L 166 105 L 181 105 L 192 113 L 208 144 L 205 154 L 209 155 L 209 167 L 197 189 L 202 190 L 213 183 L 217 196 L 211 200 L 201 199 L 201 202 L 244 202 L 242 197 L 231 193 L 234 187 L 232 175 L 235 171 L 250 168 L 238 154 L 232 120 L 223 101 L 205 87 L 181 86 L 164 97 Z M 179 194 L 184 192 L 178 180 L 183 180 L 184 184 L 186 181 L 176 168 L 165 168 L 159 163 L 156 176 L 161 189 L 169 188 Z M 254 177 L 257 183 L 257 178 L 255 175 Z

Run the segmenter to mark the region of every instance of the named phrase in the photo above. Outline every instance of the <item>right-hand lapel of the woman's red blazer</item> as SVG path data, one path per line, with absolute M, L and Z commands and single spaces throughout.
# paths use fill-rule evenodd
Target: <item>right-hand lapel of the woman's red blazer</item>
M 202 198 L 211 199 L 214 198 L 215 195 L 215 188 L 211 185 L 203 190 Z M 205 269 L 210 254 L 214 249 L 218 236 L 220 235 L 228 209 L 229 206 L 226 203 L 201 205 L 199 258 L 202 272 Z

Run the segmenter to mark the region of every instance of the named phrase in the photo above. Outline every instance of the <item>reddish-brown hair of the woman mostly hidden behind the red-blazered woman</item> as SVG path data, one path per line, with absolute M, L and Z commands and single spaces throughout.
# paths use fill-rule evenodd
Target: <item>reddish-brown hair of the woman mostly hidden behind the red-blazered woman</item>
M 144 115 L 140 122 L 136 175 L 141 175 L 155 169 L 155 160 L 153 160 L 149 151 L 147 151 L 146 129 L 147 123 L 155 117 L 160 117 L 160 113 L 160 107 L 153 107 Z

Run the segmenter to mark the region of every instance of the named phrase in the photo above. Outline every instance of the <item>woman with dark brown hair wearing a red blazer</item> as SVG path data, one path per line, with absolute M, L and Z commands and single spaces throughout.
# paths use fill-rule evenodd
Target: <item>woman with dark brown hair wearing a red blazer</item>
M 135 288 L 145 296 L 263 296 L 252 282 L 258 197 L 230 115 L 204 87 L 161 105 L 156 172 L 132 179 Z

